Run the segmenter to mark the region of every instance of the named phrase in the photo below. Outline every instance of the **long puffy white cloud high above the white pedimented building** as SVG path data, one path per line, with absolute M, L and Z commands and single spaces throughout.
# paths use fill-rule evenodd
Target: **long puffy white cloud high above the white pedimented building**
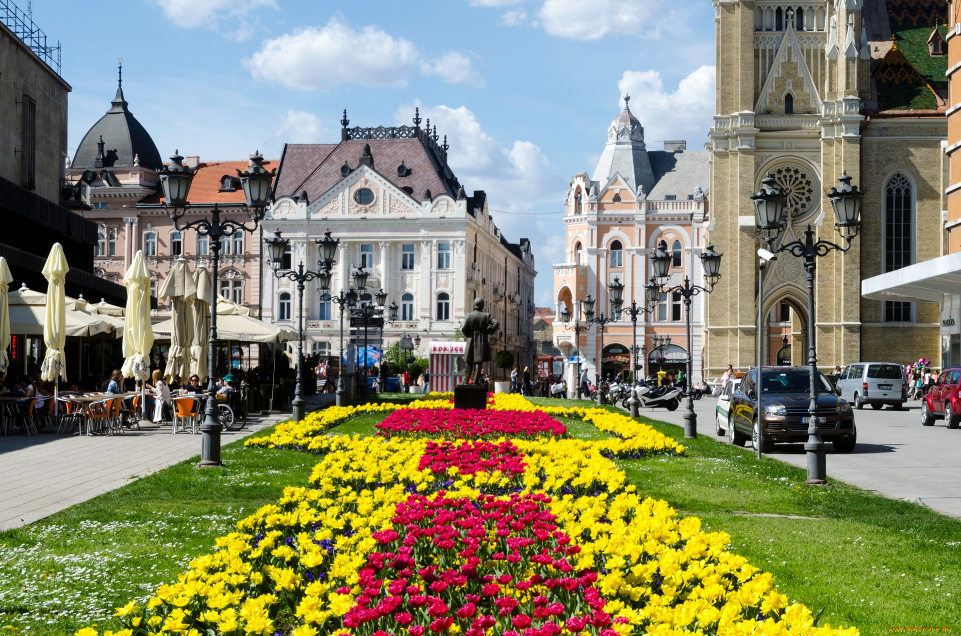
M 452 51 L 429 60 L 410 40 L 392 37 L 377 26 L 354 29 L 339 15 L 320 29 L 296 29 L 266 39 L 243 63 L 256 80 L 300 90 L 329 90 L 342 84 L 400 88 L 407 86 L 407 78 L 418 67 L 447 82 L 483 86 L 463 54 Z

